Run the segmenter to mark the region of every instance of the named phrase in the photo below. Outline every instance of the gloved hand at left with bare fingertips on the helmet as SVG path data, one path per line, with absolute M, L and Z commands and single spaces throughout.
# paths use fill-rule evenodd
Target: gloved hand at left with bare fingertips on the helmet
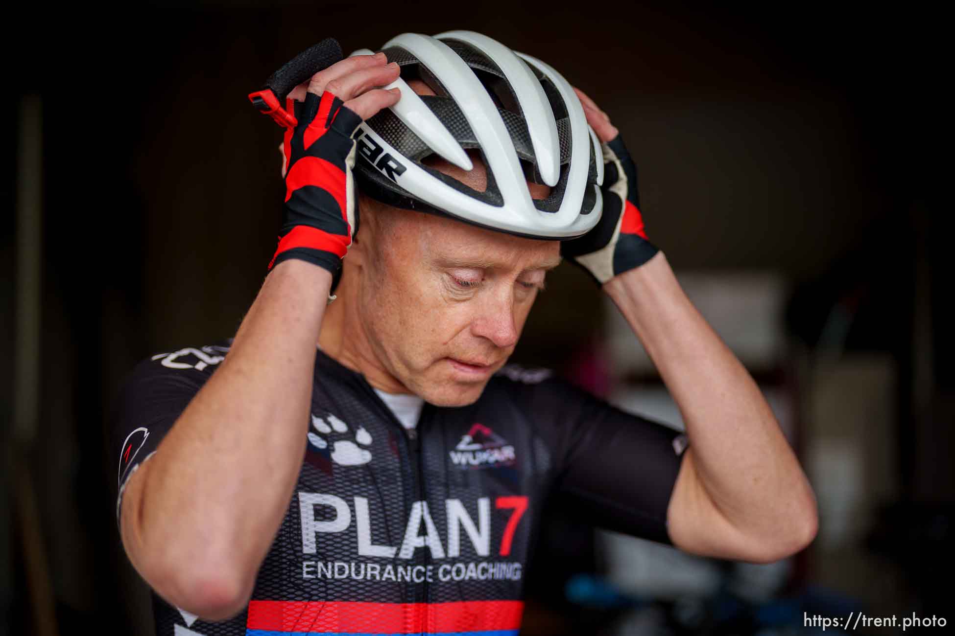
M 380 88 L 398 76 L 385 55 L 356 55 L 312 75 L 288 94 L 296 101 L 298 123 L 286 129 L 283 143 L 286 202 L 279 247 L 269 269 L 288 258 L 301 258 L 331 272 L 331 291 L 341 277 L 341 261 L 358 231 L 358 207 L 351 169 L 351 133 L 362 119 L 392 106 L 397 89 Z

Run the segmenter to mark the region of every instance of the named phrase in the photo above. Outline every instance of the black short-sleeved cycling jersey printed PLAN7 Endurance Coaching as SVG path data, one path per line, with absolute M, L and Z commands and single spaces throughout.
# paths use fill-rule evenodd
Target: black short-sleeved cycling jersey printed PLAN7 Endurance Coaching
M 162 452 L 229 343 L 159 354 L 125 381 L 113 428 L 117 523 L 125 483 Z M 515 365 L 475 403 L 425 403 L 405 429 L 363 375 L 319 349 L 307 450 L 288 458 L 302 468 L 251 600 L 211 623 L 154 592 L 156 633 L 516 635 L 545 498 L 668 544 L 685 446 L 679 431 Z

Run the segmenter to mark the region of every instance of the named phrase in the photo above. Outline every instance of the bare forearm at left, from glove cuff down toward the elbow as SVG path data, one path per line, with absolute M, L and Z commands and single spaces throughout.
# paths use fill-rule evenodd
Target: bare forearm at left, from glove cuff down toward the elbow
M 251 585 L 301 469 L 330 284 L 305 261 L 276 265 L 148 462 L 136 524 L 158 567 Z

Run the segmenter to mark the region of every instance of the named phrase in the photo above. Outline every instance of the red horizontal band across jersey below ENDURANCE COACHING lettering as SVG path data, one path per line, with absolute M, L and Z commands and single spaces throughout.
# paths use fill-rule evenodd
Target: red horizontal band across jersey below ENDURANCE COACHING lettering
M 419 634 L 519 629 L 523 601 L 249 601 L 248 629 Z

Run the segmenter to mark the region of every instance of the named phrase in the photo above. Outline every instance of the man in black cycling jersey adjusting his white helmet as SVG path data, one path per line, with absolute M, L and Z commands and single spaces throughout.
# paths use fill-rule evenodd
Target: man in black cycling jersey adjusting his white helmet
M 117 518 L 157 632 L 517 633 L 551 495 L 700 555 L 812 541 L 812 490 L 647 241 L 607 115 L 477 33 L 385 51 L 291 93 L 282 236 L 235 339 L 144 360 L 117 401 Z M 685 436 L 505 366 L 562 256 Z

